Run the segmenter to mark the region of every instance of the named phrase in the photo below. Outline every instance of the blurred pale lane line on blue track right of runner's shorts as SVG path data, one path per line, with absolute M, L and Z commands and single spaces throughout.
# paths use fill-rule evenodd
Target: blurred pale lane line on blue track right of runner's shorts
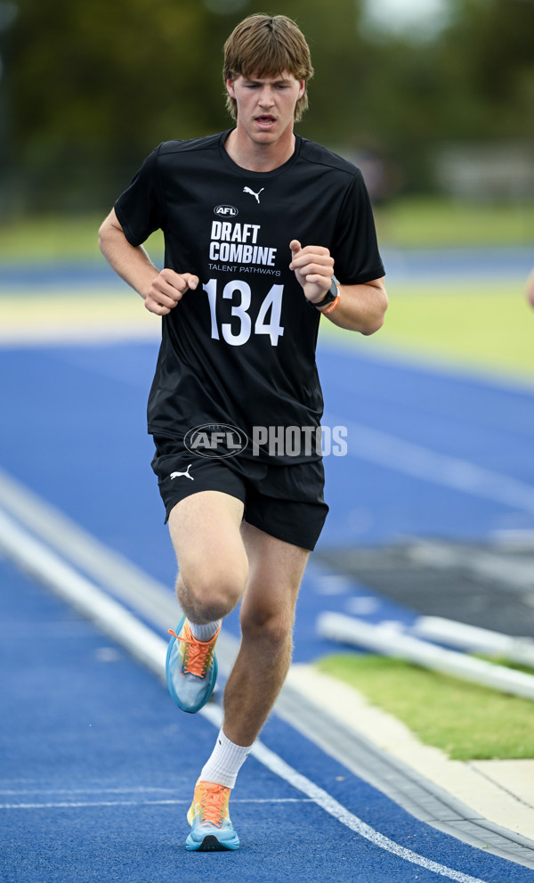
M 336 420 L 328 415 L 329 422 Z M 338 421 L 341 425 L 343 420 Z M 534 513 L 534 486 L 484 469 L 475 463 L 439 454 L 428 447 L 371 429 L 363 423 L 344 423 L 348 430 L 347 453 L 362 460 L 446 486 L 494 503 Z

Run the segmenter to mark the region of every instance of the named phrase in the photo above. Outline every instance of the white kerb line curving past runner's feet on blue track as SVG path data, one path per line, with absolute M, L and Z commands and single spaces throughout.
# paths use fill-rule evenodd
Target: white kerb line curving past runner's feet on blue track
M 72 604 L 77 610 L 91 619 L 95 625 L 109 634 L 117 643 L 129 650 L 136 658 L 159 677 L 165 677 L 165 654 L 166 642 L 158 637 L 150 628 L 143 625 L 133 614 L 112 601 L 101 592 L 99 588 L 80 576 L 74 568 L 65 564 L 58 555 L 47 549 L 26 530 L 19 527 L 11 518 L 0 510 L 0 550 L 2 550 L 20 568 L 34 576 L 40 582 L 47 585 L 61 598 Z M 219 729 L 223 721 L 223 712 L 220 707 L 208 704 L 201 709 L 200 714 L 206 717 Z M 367 839 L 375 846 L 389 853 L 398 855 L 406 862 L 417 864 L 428 871 L 440 874 L 457 883 L 485 883 L 485 881 L 470 877 L 462 871 L 454 871 L 446 865 L 433 862 L 407 849 L 405 846 L 395 843 L 394 840 L 380 834 L 371 828 L 366 822 L 362 822 L 358 816 L 349 812 L 334 797 L 330 797 L 327 791 L 319 788 L 301 773 L 297 773 L 292 766 L 286 764 L 281 757 L 276 755 L 270 748 L 257 740 L 251 754 L 261 764 L 275 773 L 279 778 L 307 797 L 321 809 L 332 815 L 338 822 Z

